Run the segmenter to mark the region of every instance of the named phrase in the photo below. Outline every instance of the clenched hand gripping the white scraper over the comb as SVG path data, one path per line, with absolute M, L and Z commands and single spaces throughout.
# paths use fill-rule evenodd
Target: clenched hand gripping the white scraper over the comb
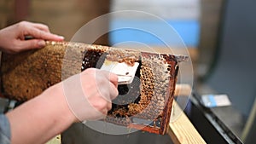
M 110 72 L 96 68 L 63 82 L 67 104 L 79 121 L 105 118 L 118 95 L 118 77 Z

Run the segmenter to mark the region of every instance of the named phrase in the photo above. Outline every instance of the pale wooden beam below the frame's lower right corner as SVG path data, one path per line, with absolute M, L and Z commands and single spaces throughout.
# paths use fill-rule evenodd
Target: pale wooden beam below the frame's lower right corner
M 176 101 L 173 101 L 172 116 L 171 118 L 177 119 L 171 120 L 169 124 L 168 135 L 174 144 L 195 144 L 206 143 L 201 135 L 195 130 L 195 127 L 189 121 L 189 118 L 183 113 L 183 110 L 177 105 Z M 177 116 L 178 115 L 178 116 Z

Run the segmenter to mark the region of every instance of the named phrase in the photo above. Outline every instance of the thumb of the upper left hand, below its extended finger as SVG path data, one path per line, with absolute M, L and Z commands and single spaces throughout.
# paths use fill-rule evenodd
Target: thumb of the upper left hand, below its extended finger
M 39 49 L 45 46 L 45 41 L 43 39 L 30 39 L 26 41 L 20 41 L 20 48 L 25 49 Z

